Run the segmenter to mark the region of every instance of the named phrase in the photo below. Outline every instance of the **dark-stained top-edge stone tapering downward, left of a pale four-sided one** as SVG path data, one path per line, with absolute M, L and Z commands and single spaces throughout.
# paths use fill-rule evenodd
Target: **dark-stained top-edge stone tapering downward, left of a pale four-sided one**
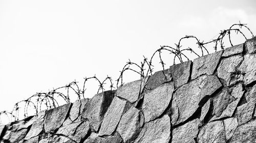
M 170 76 L 174 80 L 174 88 L 180 87 L 187 83 L 190 76 L 191 61 L 187 61 L 181 64 L 170 66 Z

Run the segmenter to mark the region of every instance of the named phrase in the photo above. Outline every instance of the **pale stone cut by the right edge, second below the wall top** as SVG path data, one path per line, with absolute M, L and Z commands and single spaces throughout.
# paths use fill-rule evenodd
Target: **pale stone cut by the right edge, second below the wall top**
M 244 55 L 244 61 L 239 67 L 243 76 L 244 84 L 250 84 L 256 80 L 256 54 L 246 54 Z

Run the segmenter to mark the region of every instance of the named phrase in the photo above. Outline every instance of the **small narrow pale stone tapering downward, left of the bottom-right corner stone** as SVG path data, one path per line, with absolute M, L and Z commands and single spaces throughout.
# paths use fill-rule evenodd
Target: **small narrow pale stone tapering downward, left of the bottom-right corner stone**
M 238 120 L 237 118 L 228 118 L 224 121 L 224 127 L 225 127 L 225 134 L 226 134 L 226 140 L 232 137 L 234 131 L 238 127 Z

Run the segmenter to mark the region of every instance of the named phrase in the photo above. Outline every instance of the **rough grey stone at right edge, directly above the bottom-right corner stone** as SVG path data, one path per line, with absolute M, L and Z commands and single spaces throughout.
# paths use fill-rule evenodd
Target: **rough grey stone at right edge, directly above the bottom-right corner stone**
M 239 126 L 247 123 L 248 121 L 250 121 L 252 119 L 254 105 L 255 105 L 255 103 L 248 102 L 248 103 L 245 103 L 237 108 L 237 115 L 235 115 L 235 117 L 237 117 L 237 119 L 238 119 Z

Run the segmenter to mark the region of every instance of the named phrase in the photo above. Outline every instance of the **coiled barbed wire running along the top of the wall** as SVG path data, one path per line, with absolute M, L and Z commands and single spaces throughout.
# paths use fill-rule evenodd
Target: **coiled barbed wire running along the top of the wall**
M 238 26 L 238 28 L 233 28 L 235 26 Z M 147 58 L 145 58 L 145 56 L 143 56 L 143 61 L 140 62 L 140 64 L 136 64 L 134 62 L 131 62 L 131 60 L 129 59 L 129 62 L 126 62 L 126 64 L 124 65 L 124 67 L 122 68 L 122 70 L 120 71 L 120 75 L 119 77 L 116 79 L 117 83 L 116 83 L 116 88 L 118 88 L 120 85 L 123 85 L 124 82 L 123 82 L 123 74 L 126 72 L 126 71 L 132 71 L 138 75 L 140 75 L 140 78 L 144 78 L 148 75 L 152 75 L 153 72 L 154 72 L 154 65 L 152 64 L 153 62 L 153 59 L 155 58 L 155 56 L 159 56 L 159 63 L 161 64 L 161 67 L 162 67 L 162 70 L 164 71 L 165 70 L 165 63 L 162 59 L 162 53 L 163 52 L 169 52 L 169 54 L 172 54 L 173 55 L 173 64 L 175 65 L 176 64 L 176 61 L 178 60 L 180 63 L 184 62 L 184 59 L 186 59 L 187 61 L 189 61 L 188 59 L 188 55 L 186 55 L 185 51 L 190 51 L 190 53 L 193 53 L 195 54 L 196 56 L 200 57 L 205 55 L 205 54 L 209 54 L 207 48 L 206 48 L 206 45 L 210 44 L 210 43 L 214 43 L 214 50 L 217 51 L 217 46 L 218 44 L 220 44 L 220 48 L 221 49 L 224 49 L 224 38 L 228 35 L 228 40 L 229 40 L 229 43 L 231 46 L 233 46 L 232 42 L 231 42 L 231 37 L 230 37 L 230 34 L 231 32 L 234 32 L 236 33 L 237 35 L 238 34 L 241 34 L 245 40 L 247 40 L 246 36 L 244 33 L 242 33 L 241 29 L 242 28 L 245 28 L 247 31 L 250 32 L 252 38 L 254 37 L 254 35 L 252 34 L 252 32 L 250 31 L 250 29 L 246 26 L 246 24 L 241 24 L 241 22 L 239 21 L 239 23 L 237 24 L 232 24 L 227 30 L 223 30 L 221 31 L 221 33 L 219 33 L 217 36 L 218 38 L 217 39 L 211 39 L 210 41 L 208 42 L 205 42 L 204 41 L 200 41 L 197 37 L 195 36 L 185 36 L 185 37 L 182 37 L 178 44 L 175 44 L 176 47 L 171 47 L 171 46 L 160 46 L 159 49 L 157 49 L 151 56 L 150 60 L 148 61 Z M 215 36 L 215 37 L 217 37 Z M 195 40 L 195 44 L 198 45 L 198 48 L 200 49 L 200 53 L 197 53 L 195 50 L 193 50 L 192 48 L 190 47 L 187 47 L 187 48 L 184 48 L 182 47 L 181 43 L 185 40 L 185 39 L 193 39 Z M 158 53 L 158 54 L 157 54 Z M 134 68 L 133 68 L 134 67 Z M 145 72 L 146 71 L 146 72 Z M 78 82 L 75 80 L 75 81 L 72 81 L 70 82 L 69 84 L 66 84 L 65 86 L 63 87 L 59 87 L 59 88 L 56 88 L 56 89 L 53 89 L 53 90 L 49 90 L 49 92 L 39 92 L 39 93 L 36 93 L 34 95 L 32 95 L 31 97 L 29 97 L 28 99 L 26 100 L 22 100 L 22 101 L 19 101 L 17 103 L 15 103 L 14 107 L 13 107 L 13 110 L 11 112 L 8 112 L 8 111 L 1 111 L 0 112 L 0 124 L 2 124 L 2 120 L 1 118 L 2 117 L 7 117 L 9 119 L 9 122 L 10 121 L 17 121 L 19 120 L 19 111 L 20 109 L 23 109 L 23 112 L 24 112 L 24 118 L 28 117 L 29 114 L 28 114 L 28 111 L 31 111 L 32 109 L 35 111 L 35 114 L 37 115 L 37 113 L 39 111 L 42 110 L 42 108 L 44 109 L 51 109 L 51 108 L 55 108 L 55 107 L 58 107 L 59 106 L 59 100 L 62 99 L 62 102 L 65 102 L 65 103 L 70 103 L 71 100 L 70 100 L 70 92 L 74 92 L 75 95 L 77 96 L 77 99 L 81 99 L 83 98 L 84 99 L 84 94 L 86 92 L 86 83 L 88 81 L 91 81 L 92 79 L 95 79 L 98 83 L 98 91 L 97 91 L 97 94 L 101 91 L 105 91 L 104 89 L 104 84 L 106 84 L 106 82 L 109 81 L 110 83 L 110 87 L 109 89 L 110 90 L 113 90 L 115 89 L 114 87 L 114 83 L 113 83 L 113 80 L 110 76 L 106 76 L 106 78 L 102 81 L 99 80 L 99 78 L 96 77 L 96 75 L 92 76 L 92 77 L 86 77 L 86 78 L 83 78 L 83 85 L 82 85 L 82 88 L 79 87 L 79 85 L 77 84 Z M 120 85 L 119 85 L 120 84 Z M 65 92 L 63 92 L 65 91 Z M 21 105 L 23 105 L 23 107 L 21 107 Z M 32 107 L 32 109 L 30 109 Z

